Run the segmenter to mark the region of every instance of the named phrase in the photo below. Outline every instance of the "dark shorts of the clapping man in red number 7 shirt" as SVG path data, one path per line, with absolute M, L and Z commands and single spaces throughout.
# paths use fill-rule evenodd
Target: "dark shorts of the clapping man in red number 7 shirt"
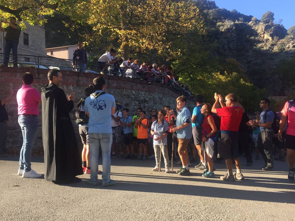
M 238 136 L 239 132 L 221 133 L 221 139 L 217 143 L 218 158 L 238 158 Z

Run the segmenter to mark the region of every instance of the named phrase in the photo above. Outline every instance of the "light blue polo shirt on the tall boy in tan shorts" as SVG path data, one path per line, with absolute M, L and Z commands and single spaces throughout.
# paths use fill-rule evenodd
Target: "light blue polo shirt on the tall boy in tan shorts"
M 186 106 L 177 113 L 176 127 L 179 127 L 185 122 L 189 123 L 190 125 L 181 130 L 177 130 L 177 137 L 182 139 L 191 139 L 191 136 L 193 135 L 191 129 L 191 113 Z

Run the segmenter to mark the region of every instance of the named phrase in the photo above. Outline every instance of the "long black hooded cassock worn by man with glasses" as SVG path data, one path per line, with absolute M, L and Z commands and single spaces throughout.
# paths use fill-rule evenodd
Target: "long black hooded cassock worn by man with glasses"
M 69 112 L 74 102 L 55 84 L 42 87 L 42 138 L 45 174 L 50 181 L 68 182 L 82 175 L 81 158 Z

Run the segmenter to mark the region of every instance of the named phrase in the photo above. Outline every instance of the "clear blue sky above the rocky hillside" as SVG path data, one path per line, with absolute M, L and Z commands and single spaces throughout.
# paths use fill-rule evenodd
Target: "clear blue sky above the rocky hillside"
M 219 8 L 236 9 L 245 15 L 253 15 L 258 19 L 267 11 L 275 14 L 275 21 L 283 19 L 281 24 L 288 30 L 295 25 L 295 0 L 215 0 Z

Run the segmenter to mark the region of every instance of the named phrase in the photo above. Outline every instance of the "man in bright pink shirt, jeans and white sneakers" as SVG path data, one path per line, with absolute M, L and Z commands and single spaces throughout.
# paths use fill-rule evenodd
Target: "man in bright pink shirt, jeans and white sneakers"
M 17 91 L 18 123 L 22 129 L 23 144 L 20 150 L 18 175 L 23 178 L 38 178 L 41 174 L 31 169 L 31 153 L 38 129 L 38 103 L 41 104 L 39 92 L 33 88 L 34 76 L 24 73 L 22 88 Z

